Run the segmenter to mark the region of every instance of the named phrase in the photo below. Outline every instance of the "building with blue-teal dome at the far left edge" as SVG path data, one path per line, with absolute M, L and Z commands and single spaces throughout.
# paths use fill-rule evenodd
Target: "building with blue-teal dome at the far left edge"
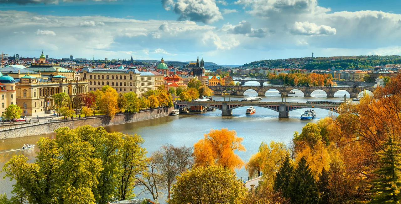
M 15 104 L 15 80 L 9 75 L 0 73 L 0 116 L 6 111 L 6 108 Z

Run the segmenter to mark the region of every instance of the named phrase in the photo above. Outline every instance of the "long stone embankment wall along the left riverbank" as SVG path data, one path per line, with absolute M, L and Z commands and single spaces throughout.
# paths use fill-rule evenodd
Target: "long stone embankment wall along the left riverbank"
M 81 118 L 74 120 L 58 121 L 58 122 L 48 122 L 43 124 L 37 124 L 27 127 L 21 127 L 18 129 L 11 130 L 0 130 L 0 139 L 9 139 L 16 137 L 26 137 L 33 135 L 43 135 L 48 133 L 53 133 L 56 129 L 60 127 L 69 127 L 74 129 L 78 126 L 89 124 L 93 127 L 97 126 L 110 126 L 116 124 L 124 124 L 130 122 L 138 122 L 142 120 L 149 120 L 153 118 L 160 118 L 168 116 L 173 110 L 173 107 L 168 108 L 157 108 L 153 110 L 145 110 L 137 113 L 119 114 L 115 115 L 113 119 L 108 116 L 94 117 L 94 118 Z

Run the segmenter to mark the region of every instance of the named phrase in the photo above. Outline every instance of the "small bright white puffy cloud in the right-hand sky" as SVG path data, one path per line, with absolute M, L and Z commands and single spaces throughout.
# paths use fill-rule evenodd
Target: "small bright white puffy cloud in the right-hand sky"
M 316 25 L 315 23 L 295 22 L 291 33 L 294 35 L 336 35 L 336 29 L 325 25 Z

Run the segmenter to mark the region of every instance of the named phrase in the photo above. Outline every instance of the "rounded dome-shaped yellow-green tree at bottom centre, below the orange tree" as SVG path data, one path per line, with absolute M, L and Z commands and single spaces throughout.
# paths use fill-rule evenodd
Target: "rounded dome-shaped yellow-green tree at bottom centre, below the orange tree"
M 240 204 L 245 195 L 246 188 L 231 169 L 220 166 L 195 167 L 177 177 L 169 203 Z

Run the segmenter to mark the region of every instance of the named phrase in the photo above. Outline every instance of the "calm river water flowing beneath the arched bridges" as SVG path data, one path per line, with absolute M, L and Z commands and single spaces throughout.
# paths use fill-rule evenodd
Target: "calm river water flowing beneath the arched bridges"
M 247 82 L 248 83 L 252 82 Z M 257 82 L 256 82 L 257 83 Z M 258 85 L 253 84 L 253 85 Z M 349 97 L 346 91 L 338 91 L 334 94 L 335 98 L 326 98 L 323 91 L 316 90 L 311 94 L 310 98 L 304 98 L 303 93 L 299 90 L 294 90 L 296 94 L 290 94 L 287 97 L 288 102 L 306 102 L 307 100 L 324 100 L 324 101 L 340 101 L 344 94 Z M 257 96 L 255 91 L 247 91 L 245 95 Z M 265 96 L 261 96 L 262 101 L 281 102 L 282 98 L 278 91 L 269 90 Z M 241 100 L 242 96 L 232 96 L 231 100 Z M 229 100 L 221 96 L 213 96 L 216 101 Z M 314 109 L 317 116 L 311 121 L 300 120 L 300 115 L 304 109 L 291 111 L 289 118 L 278 118 L 278 113 L 267 108 L 255 107 L 256 113 L 245 115 L 247 107 L 241 107 L 232 111 L 232 116 L 221 116 L 220 110 L 180 114 L 177 116 L 166 116 L 141 122 L 120 124 L 105 127 L 107 131 L 119 131 L 126 134 L 141 135 L 145 142 L 143 146 L 148 151 L 148 156 L 160 148 L 162 144 L 170 143 L 172 145 L 192 146 L 198 140 L 204 137 L 211 129 L 228 128 L 229 130 L 237 131 L 239 137 L 243 137 L 243 145 L 246 148 L 245 152 L 237 152 L 237 154 L 245 162 L 256 153 L 262 141 L 269 143 L 270 141 L 280 141 L 288 143 L 292 138 L 294 131 L 300 132 L 302 127 L 307 122 L 316 122 L 320 118 L 324 118 L 330 114 L 336 114 L 328 110 Z M 34 157 L 38 148 L 30 150 L 21 150 L 24 143 L 34 144 L 40 137 L 54 138 L 54 134 L 39 135 L 32 137 L 23 137 L 15 139 L 4 139 L 0 141 L 0 168 L 4 166 L 12 156 L 24 154 L 30 161 L 34 161 Z M 0 194 L 7 193 L 11 195 L 13 181 L 8 179 L 3 180 L 4 172 L 0 173 Z M 245 168 L 237 170 L 238 177 L 247 177 Z

